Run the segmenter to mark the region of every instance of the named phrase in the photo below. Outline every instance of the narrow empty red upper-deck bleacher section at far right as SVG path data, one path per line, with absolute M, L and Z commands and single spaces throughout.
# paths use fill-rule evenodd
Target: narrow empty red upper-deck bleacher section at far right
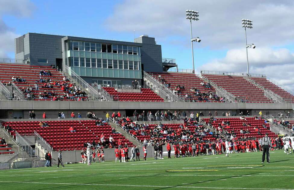
M 272 82 L 268 81 L 266 78 L 264 77 L 250 77 L 250 78 L 254 80 L 255 82 L 261 84 L 263 87 L 273 91 L 273 93 L 278 94 L 280 97 L 284 98 L 286 101 L 294 103 L 294 96 L 292 94 L 278 87 Z

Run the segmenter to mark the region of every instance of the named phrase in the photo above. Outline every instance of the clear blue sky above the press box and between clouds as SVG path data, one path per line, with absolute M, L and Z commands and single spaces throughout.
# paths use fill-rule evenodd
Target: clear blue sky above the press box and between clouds
M 6 14 L 2 18 L 5 24 L 14 29 L 17 34 L 27 32 L 46 32 L 68 35 L 92 36 L 97 38 L 114 38 L 123 40 L 133 40 L 133 29 L 130 31 L 117 32 L 110 30 L 106 26 L 106 19 L 112 15 L 115 1 L 101 1 L 99 3 L 81 1 L 31 1 L 35 5 L 29 17 L 16 17 Z M 99 6 L 93 6 L 93 5 Z M 69 6 L 75 5 L 75 6 Z M 184 10 L 185 11 L 185 10 Z M 184 15 L 184 14 L 183 14 Z M 185 15 L 183 16 L 185 20 Z M 187 26 L 189 22 L 187 21 Z M 197 24 L 197 23 L 193 23 Z M 142 35 L 135 28 L 135 37 Z M 145 34 L 145 33 L 144 33 Z M 149 34 L 149 33 L 147 33 Z M 156 38 L 156 35 L 149 34 Z M 165 58 L 175 58 L 179 68 L 191 68 L 191 47 L 183 43 L 186 38 L 179 38 L 176 44 L 169 40 L 158 41 L 162 46 L 162 56 Z M 187 36 L 189 37 L 189 36 Z M 214 58 L 225 57 L 226 49 L 211 50 L 209 47 L 199 48 L 194 44 L 195 65 L 199 66 Z M 14 52 L 8 52 L 8 56 L 13 58 Z

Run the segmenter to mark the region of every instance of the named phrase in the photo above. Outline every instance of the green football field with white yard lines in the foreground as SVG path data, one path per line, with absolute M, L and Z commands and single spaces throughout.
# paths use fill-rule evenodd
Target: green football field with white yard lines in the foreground
M 294 155 L 271 151 L 0 171 L 0 189 L 294 189 Z

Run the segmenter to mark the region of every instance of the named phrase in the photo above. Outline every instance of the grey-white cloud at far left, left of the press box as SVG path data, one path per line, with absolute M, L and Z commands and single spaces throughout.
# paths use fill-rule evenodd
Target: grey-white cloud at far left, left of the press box
M 4 1 L 0 0 L 0 57 L 7 58 L 8 53 L 14 52 L 14 38 L 20 34 L 15 33 L 3 21 L 4 15 L 16 17 L 29 17 L 34 10 L 34 5 L 28 0 Z

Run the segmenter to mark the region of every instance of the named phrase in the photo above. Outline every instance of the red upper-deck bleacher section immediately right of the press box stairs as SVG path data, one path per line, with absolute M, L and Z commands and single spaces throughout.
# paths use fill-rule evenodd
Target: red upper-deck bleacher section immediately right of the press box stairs
M 150 73 L 151 76 L 153 76 L 157 81 L 160 81 L 162 84 L 170 84 L 170 89 L 173 90 L 175 89 L 176 86 L 180 85 L 181 87 L 184 86 L 185 89 L 181 89 L 181 95 L 185 96 L 188 94 L 191 97 L 191 100 L 194 100 L 195 102 L 205 102 L 205 100 L 198 100 L 199 96 L 196 96 L 194 92 L 192 92 L 190 89 L 192 87 L 196 88 L 199 90 L 199 93 L 214 93 L 216 94 L 215 89 L 211 86 L 210 88 L 206 88 L 205 86 L 202 86 L 200 83 L 203 82 L 203 80 L 198 77 L 195 74 L 190 74 L 190 73 L 175 73 L 175 72 L 170 72 L 170 73 L 155 73 L 152 72 Z M 159 77 L 160 75 L 160 77 Z M 165 82 L 162 82 L 162 79 L 165 80 Z M 214 100 L 209 98 L 209 96 L 202 96 L 202 98 L 207 98 L 208 101 L 210 102 L 222 102 L 218 100 Z

